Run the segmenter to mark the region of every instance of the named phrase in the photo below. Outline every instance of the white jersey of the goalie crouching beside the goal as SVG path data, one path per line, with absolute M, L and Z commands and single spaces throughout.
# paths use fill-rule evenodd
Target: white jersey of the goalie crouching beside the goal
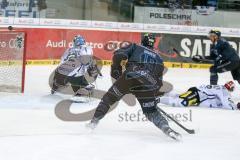
M 89 46 L 72 47 L 67 49 L 61 57 L 58 67 L 59 73 L 66 76 L 83 76 L 93 63 L 93 51 Z

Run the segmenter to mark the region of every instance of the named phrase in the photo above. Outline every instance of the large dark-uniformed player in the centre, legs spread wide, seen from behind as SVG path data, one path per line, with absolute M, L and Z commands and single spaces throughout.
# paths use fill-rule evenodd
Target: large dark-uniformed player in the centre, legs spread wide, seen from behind
M 107 114 L 110 106 L 121 100 L 126 94 L 133 94 L 141 105 L 146 118 L 161 129 L 163 133 L 175 140 L 181 135 L 169 127 L 168 121 L 157 109 L 157 97 L 162 86 L 163 60 L 153 50 L 155 36 L 145 33 L 141 45 L 132 43 L 115 51 L 111 76 L 116 82 L 103 96 L 95 114 L 87 124 L 94 129 L 99 121 Z M 122 73 L 122 61 L 127 61 L 126 70 Z

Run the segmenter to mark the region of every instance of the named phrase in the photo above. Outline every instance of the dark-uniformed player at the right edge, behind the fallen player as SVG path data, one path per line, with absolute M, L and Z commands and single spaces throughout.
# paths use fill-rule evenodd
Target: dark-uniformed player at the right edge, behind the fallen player
M 194 56 L 196 62 L 205 59 L 213 60 L 213 66 L 210 68 L 210 84 L 217 85 L 218 73 L 231 71 L 233 79 L 240 83 L 240 58 L 236 50 L 223 38 L 219 30 L 211 30 L 209 39 L 212 41 L 210 56 Z

